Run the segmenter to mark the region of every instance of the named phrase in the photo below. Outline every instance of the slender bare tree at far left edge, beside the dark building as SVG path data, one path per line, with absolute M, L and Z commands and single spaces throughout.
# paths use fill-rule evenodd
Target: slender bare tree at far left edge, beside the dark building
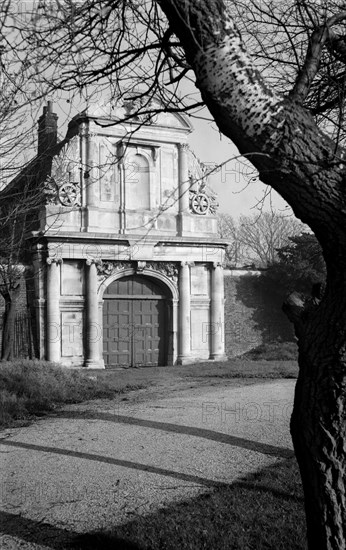
M 35 136 L 31 109 L 34 96 L 28 86 L 28 55 L 16 51 L 12 39 L 18 33 L 14 20 L 14 3 L 0 6 L 0 191 L 28 164 L 33 155 Z M 13 355 L 14 323 L 17 302 L 25 272 L 26 221 L 37 214 L 40 195 L 30 188 L 29 181 L 20 189 L 8 188 L 0 199 L 0 295 L 4 299 L 2 347 L 0 357 Z

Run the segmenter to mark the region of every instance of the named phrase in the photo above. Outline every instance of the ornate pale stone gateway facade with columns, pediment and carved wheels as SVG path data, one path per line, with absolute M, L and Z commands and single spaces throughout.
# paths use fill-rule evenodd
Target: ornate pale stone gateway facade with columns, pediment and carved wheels
M 41 182 L 39 356 L 91 368 L 223 360 L 226 243 L 191 126 L 169 113 L 116 124 L 126 109 L 74 117 Z M 41 142 L 55 122 L 49 105 Z

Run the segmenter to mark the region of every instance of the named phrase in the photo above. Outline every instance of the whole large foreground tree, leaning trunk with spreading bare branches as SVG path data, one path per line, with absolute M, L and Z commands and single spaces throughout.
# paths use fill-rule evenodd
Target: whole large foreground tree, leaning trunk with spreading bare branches
M 299 340 L 291 433 L 309 548 L 345 549 L 344 2 L 62 0 L 53 6 L 49 13 L 43 4 L 12 36 L 16 55 L 32 58 L 26 81 L 47 91 L 87 90 L 89 99 L 105 89 L 113 97 L 130 94 L 133 116 L 139 109 L 147 119 L 155 114 L 154 96 L 173 111 L 204 103 L 262 182 L 318 238 L 327 265 L 324 294 L 293 295 L 285 306 Z M 246 42 L 237 27 L 243 21 Z M 180 95 L 183 78 L 189 87 Z

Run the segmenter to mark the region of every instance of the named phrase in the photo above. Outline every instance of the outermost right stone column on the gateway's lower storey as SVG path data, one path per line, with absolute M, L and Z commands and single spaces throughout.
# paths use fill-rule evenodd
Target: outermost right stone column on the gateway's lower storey
M 211 272 L 210 359 L 225 359 L 223 271 L 214 263 Z

